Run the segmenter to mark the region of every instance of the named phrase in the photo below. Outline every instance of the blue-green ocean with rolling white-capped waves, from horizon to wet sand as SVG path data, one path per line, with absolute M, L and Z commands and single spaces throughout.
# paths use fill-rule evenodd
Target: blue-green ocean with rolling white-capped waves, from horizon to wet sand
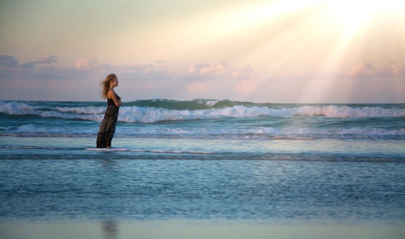
M 139 100 L 120 107 L 113 148 L 97 149 L 105 109 L 0 101 L 0 235 L 21 221 L 124 233 L 173 220 L 405 235 L 405 104 Z

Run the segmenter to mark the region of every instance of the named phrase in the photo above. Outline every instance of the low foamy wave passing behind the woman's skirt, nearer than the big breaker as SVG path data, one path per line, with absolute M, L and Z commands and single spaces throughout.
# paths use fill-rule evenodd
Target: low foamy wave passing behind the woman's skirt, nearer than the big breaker
M 19 127 L 0 127 L 0 136 L 33 137 L 95 137 L 98 127 L 48 127 L 26 124 Z M 276 129 L 254 127 L 241 129 L 193 129 L 193 128 L 125 128 L 115 131 L 115 137 L 155 137 L 189 139 L 405 139 L 405 128 L 348 129 Z

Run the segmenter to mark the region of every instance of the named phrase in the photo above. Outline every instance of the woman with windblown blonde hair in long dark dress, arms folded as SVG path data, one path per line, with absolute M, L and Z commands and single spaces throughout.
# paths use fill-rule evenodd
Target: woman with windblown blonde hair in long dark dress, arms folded
M 115 93 L 114 87 L 118 86 L 118 78 L 115 74 L 109 74 L 100 84 L 103 90 L 102 97 L 107 98 L 107 109 L 105 110 L 104 119 L 101 121 L 100 129 L 97 135 L 97 148 L 111 148 L 112 136 L 115 132 L 115 124 L 118 119 L 118 110 L 121 98 Z

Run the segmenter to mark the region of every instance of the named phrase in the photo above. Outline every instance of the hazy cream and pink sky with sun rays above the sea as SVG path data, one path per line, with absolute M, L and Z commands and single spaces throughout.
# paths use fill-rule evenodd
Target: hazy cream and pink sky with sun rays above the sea
M 0 100 L 405 103 L 405 0 L 0 0 Z

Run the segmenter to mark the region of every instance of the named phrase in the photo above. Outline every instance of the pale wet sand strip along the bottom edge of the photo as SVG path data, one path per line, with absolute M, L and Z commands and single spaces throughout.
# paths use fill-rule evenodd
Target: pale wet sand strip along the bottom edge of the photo
M 2 220 L 0 238 L 405 238 L 405 223 L 266 224 L 254 220 Z

